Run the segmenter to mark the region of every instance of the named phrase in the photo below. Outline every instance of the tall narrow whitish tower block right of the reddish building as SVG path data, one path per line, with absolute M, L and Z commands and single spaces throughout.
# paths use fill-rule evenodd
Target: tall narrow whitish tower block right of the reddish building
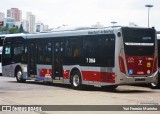
M 32 12 L 27 12 L 27 32 L 29 33 L 35 33 L 35 15 L 32 14 Z

